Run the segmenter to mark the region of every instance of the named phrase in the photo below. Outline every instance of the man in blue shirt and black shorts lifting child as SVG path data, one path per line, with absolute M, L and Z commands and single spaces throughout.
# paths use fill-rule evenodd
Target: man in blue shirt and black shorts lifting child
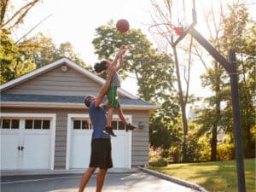
M 86 184 L 89 182 L 91 175 L 95 172 L 97 167 L 99 167 L 100 170 L 96 177 L 96 192 L 101 192 L 108 168 L 113 167 L 110 136 L 103 132 L 105 125 L 107 124 L 107 109 L 104 105 L 101 105 L 101 103 L 108 91 L 114 73 L 115 70 L 113 68 L 108 70 L 108 77 L 105 84 L 102 85 L 102 89 L 98 96 L 86 96 L 84 99 L 85 106 L 89 108 L 93 133 L 91 140 L 90 166 L 87 171 L 84 172 L 81 179 L 79 192 L 84 191 Z

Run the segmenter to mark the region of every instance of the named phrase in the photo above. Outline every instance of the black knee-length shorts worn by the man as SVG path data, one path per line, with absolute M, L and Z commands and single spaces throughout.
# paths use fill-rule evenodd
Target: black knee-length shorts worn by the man
M 90 167 L 113 167 L 110 139 L 99 138 L 91 141 Z

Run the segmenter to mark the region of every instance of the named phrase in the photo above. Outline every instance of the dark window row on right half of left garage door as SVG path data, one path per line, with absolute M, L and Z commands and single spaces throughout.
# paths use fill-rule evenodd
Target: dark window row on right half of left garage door
M 49 130 L 48 119 L 26 119 L 25 129 L 26 130 Z

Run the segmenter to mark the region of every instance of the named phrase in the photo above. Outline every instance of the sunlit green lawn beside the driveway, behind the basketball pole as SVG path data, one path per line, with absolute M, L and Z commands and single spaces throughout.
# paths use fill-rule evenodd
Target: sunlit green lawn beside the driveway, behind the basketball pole
M 255 159 L 244 160 L 247 192 L 256 191 Z M 171 164 L 149 167 L 171 177 L 197 183 L 209 192 L 237 192 L 236 160 L 207 163 Z

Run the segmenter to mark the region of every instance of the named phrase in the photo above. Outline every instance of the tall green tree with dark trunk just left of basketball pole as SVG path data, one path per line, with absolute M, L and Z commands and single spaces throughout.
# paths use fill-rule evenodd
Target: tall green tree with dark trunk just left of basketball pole
M 223 14 L 223 3 L 219 2 L 219 12 Z M 210 34 L 209 41 L 213 47 L 221 51 L 221 44 L 219 40 L 220 32 L 222 28 L 218 22 L 217 14 L 214 12 L 212 7 L 210 11 L 204 12 L 208 33 Z M 209 108 L 202 109 L 202 118 L 197 119 L 197 123 L 200 123 L 201 134 L 211 131 L 211 160 L 217 160 L 217 135 L 218 127 L 221 126 L 221 102 L 223 101 L 224 91 L 221 90 L 223 79 L 224 79 L 224 68 L 218 61 L 212 60 L 208 65 L 206 64 L 205 58 L 199 54 L 198 48 L 195 46 L 195 55 L 199 56 L 204 67 L 206 67 L 207 73 L 201 75 L 202 86 L 209 87 L 214 93 L 213 96 L 208 97 L 206 102 L 209 103 Z M 211 114 L 211 115 L 209 115 Z M 207 115 L 207 116 L 205 116 Z

